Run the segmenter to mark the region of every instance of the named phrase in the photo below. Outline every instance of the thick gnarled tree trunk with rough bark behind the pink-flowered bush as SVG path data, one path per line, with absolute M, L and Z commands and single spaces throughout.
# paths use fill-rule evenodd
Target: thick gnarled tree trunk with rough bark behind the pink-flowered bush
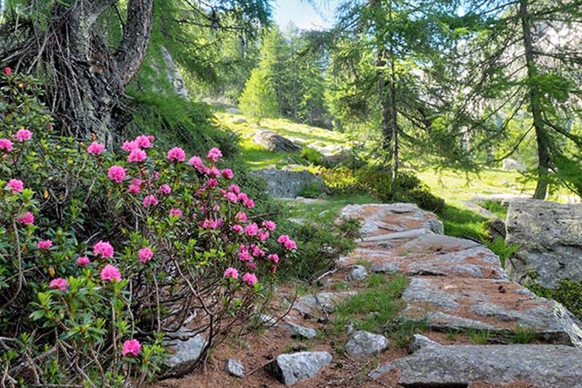
M 46 31 L 34 31 L 31 41 L 47 44 L 34 57 L 44 60 L 50 74 L 48 99 L 68 134 L 95 134 L 108 146 L 127 119 L 119 107 L 125 86 L 141 66 L 150 39 L 154 0 L 128 0 L 127 22 L 113 54 L 97 29 L 97 21 L 119 0 L 77 0 L 68 8 L 55 5 L 56 17 Z M 44 34 L 39 39 L 38 34 Z M 34 63 L 34 62 L 33 62 Z

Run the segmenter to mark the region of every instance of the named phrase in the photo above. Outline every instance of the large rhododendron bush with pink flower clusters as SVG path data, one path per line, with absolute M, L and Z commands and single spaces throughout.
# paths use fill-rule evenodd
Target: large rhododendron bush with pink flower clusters
M 12 106 L 29 98 L 17 80 Z M 140 385 L 184 323 L 207 348 L 247 328 L 297 244 L 253 216 L 220 149 L 144 134 L 113 154 L 25 124 L 0 127 L 2 382 Z

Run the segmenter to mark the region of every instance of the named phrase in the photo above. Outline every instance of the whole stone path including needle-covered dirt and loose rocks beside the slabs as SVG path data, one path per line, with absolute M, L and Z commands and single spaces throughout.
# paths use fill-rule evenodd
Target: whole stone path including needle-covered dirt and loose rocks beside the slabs
M 444 236 L 437 217 L 413 204 L 349 205 L 340 216 L 360 219 L 362 236 L 319 291 L 297 298 L 279 322 L 260 315 L 266 330 L 246 347 L 217 350 L 214 372 L 156 387 L 582 388 L 582 323 L 512 282 L 487 247 Z M 374 272 L 405 273 L 400 314 L 428 322 L 408 354 L 382 333 L 327 335 L 336 305 L 363 291 Z M 347 289 L 334 289 L 346 280 Z M 290 292 L 279 295 L 274 316 L 290 307 Z M 486 330 L 489 344 L 449 337 L 476 330 Z M 530 343 L 512 344 L 518 336 Z

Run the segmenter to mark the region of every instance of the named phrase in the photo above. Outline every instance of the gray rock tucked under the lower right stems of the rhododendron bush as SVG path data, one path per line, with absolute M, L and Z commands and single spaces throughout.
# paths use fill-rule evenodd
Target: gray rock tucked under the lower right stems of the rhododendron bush
M 166 364 L 170 367 L 168 374 L 182 376 L 192 371 L 207 342 L 201 334 L 193 336 L 187 330 L 173 335 L 178 338 L 164 344 L 170 354 L 166 358 Z

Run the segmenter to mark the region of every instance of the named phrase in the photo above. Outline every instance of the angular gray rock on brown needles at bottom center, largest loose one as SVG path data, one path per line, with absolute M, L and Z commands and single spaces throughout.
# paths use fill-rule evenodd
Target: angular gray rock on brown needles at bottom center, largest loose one
M 331 364 L 331 354 L 327 351 L 302 351 L 292 354 L 280 354 L 265 369 L 286 386 L 308 379 L 321 372 Z

